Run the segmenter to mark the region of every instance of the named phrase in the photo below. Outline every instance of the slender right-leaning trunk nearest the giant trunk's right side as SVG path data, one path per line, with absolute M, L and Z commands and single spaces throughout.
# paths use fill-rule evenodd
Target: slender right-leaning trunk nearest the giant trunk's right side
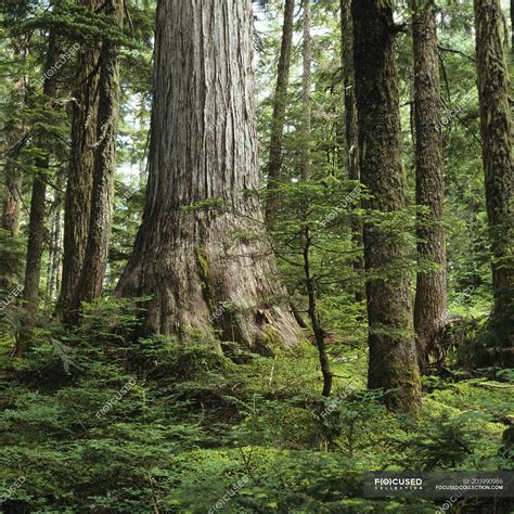
M 282 170 L 282 137 L 287 104 L 287 87 L 290 85 L 291 54 L 293 51 L 293 22 L 295 0 L 284 2 L 284 28 L 280 49 L 277 90 L 273 99 L 273 118 L 271 120 L 270 156 L 268 163 L 269 197 L 266 206 L 266 220 L 272 227 L 277 217 L 278 198 L 273 190 L 280 180 Z

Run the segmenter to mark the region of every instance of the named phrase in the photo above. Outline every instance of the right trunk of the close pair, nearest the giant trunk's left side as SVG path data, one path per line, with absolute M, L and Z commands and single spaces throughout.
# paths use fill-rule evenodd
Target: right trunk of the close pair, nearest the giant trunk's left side
M 123 0 L 107 0 L 105 14 L 121 27 Z M 114 200 L 114 172 L 116 169 L 116 129 L 119 105 L 119 49 L 106 41 L 100 55 L 99 115 L 94 177 L 91 202 L 91 220 L 88 244 L 73 310 L 81 301 L 91 301 L 102 294 L 107 267 L 108 240 Z

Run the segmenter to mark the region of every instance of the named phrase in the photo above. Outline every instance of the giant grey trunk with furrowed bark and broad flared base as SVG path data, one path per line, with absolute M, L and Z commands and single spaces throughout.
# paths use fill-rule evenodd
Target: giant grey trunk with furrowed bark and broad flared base
M 247 194 L 259 187 L 252 25 L 250 0 L 158 2 L 146 205 L 117 290 L 153 295 L 147 332 L 214 327 L 270 352 L 297 332 L 264 237 L 242 235 L 264 220 Z

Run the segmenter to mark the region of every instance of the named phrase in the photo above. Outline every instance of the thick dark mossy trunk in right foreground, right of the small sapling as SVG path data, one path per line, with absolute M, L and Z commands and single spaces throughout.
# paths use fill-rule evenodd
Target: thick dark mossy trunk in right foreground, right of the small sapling
M 354 0 L 354 51 L 361 178 L 372 198 L 368 209 L 395 213 L 404 206 L 399 95 L 395 68 L 393 11 L 381 0 Z M 409 275 L 377 278 L 383 267 L 401 266 L 401 235 L 364 226 L 364 259 L 370 325 L 371 388 L 393 389 L 393 409 L 419 407 L 420 375 L 412 326 Z

